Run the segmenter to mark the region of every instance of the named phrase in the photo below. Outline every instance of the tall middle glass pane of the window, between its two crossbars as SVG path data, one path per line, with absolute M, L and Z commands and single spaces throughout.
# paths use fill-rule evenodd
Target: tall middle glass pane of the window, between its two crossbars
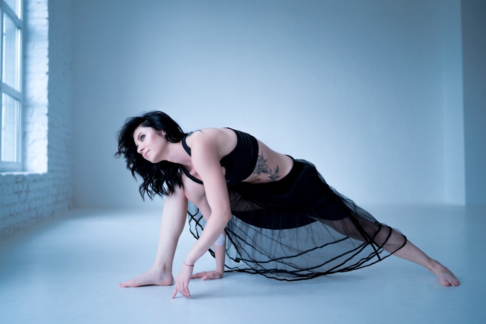
M 2 80 L 7 85 L 19 89 L 20 29 L 5 12 L 3 13 L 3 68 Z

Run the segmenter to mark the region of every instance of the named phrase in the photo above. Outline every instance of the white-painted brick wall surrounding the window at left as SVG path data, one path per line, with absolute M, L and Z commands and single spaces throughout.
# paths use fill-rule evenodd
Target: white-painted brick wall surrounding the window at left
M 72 1 L 24 0 L 24 6 L 29 172 L 0 174 L 0 239 L 72 205 Z

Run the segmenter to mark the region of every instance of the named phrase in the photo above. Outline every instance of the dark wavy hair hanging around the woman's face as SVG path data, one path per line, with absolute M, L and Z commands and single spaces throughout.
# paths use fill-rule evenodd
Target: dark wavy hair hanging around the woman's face
M 123 156 L 126 168 L 132 172 L 137 179 L 138 174 L 143 182 L 139 186 L 139 193 L 145 200 L 145 194 L 152 200 L 155 195 L 164 196 L 174 192 L 176 186 L 182 187 L 180 165 L 169 161 L 152 163 L 143 158 L 137 152 L 133 139 L 135 129 L 139 126 L 152 127 L 156 133 L 162 136 L 165 131 L 165 138 L 172 143 L 179 142 L 182 137 L 187 136 L 174 119 L 161 111 L 150 111 L 138 117 L 125 119 L 121 129 L 118 131 L 118 152 L 115 157 Z

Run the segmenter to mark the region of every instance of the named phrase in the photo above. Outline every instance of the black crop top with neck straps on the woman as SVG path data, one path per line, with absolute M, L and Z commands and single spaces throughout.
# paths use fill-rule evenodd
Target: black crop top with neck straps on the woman
M 243 133 L 227 127 L 235 132 L 237 143 L 233 151 L 223 157 L 219 163 L 226 169 L 225 178 L 228 187 L 233 187 L 248 178 L 255 170 L 258 158 L 258 142 L 254 136 Z M 191 156 L 191 149 L 186 144 L 186 136 L 182 137 L 182 146 Z M 203 184 L 203 182 L 192 176 L 189 171 L 181 166 L 182 171 L 194 182 Z

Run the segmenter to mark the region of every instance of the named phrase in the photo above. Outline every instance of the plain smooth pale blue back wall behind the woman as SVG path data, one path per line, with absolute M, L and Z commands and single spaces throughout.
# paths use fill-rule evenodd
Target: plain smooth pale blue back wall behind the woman
M 440 2 L 76 1 L 75 206 L 142 206 L 115 135 L 153 109 L 309 159 L 358 203 L 456 203 Z

